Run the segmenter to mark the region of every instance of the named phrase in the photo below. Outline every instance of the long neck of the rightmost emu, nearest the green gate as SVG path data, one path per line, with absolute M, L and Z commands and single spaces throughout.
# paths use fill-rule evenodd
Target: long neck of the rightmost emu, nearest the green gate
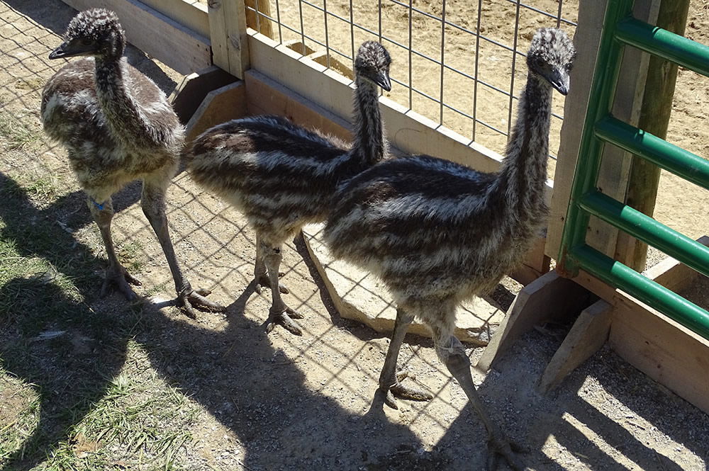
M 534 223 L 546 211 L 551 108 L 552 87 L 535 75 L 527 75 L 506 157 L 492 188 L 496 193 L 493 198 L 501 198 L 506 217 L 515 222 Z

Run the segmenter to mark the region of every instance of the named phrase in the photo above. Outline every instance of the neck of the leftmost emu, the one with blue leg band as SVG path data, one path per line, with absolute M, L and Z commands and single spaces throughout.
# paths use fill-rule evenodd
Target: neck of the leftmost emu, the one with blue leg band
M 148 125 L 138 103 L 125 87 L 125 69 L 121 56 L 96 57 L 96 96 L 113 136 L 126 147 L 143 147 Z

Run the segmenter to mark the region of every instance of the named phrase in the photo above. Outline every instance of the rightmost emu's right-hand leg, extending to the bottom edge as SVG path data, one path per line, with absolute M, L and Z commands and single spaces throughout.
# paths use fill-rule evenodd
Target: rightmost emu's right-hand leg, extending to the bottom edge
M 502 456 L 507 461 L 508 465 L 515 471 L 525 469 L 520 458 L 515 455 L 515 451 L 520 451 L 522 447 L 507 441 L 500 429 L 497 428 L 489 419 L 485 412 L 480 397 L 475 390 L 473 378 L 470 373 L 470 360 L 465 354 L 465 350 L 458 339 L 450 336 L 448 346 L 436 347 L 446 368 L 450 371 L 453 377 L 458 381 L 460 387 L 465 391 L 468 397 L 469 404 L 473 407 L 480 420 L 485 425 L 488 431 L 488 470 L 496 470 L 498 458 Z M 514 450 L 514 451 L 513 451 Z

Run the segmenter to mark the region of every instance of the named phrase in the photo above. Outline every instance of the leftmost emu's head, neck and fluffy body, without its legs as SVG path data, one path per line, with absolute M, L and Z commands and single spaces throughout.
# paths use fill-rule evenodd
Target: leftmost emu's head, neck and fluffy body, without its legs
M 164 93 L 122 57 L 125 37 L 116 14 L 82 11 L 65 39 L 50 59 L 84 57 L 45 85 L 42 121 L 67 147 L 86 192 L 102 201 L 128 181 L 174 173 L 184 128 Z

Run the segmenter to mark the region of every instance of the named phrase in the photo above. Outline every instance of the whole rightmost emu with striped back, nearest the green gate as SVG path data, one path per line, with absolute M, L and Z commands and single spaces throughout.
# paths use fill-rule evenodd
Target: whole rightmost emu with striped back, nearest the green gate
M 542 29 L 527 55 L 527 84 L 506 157 L 497 174 L 425 155 L 391 159 L 352 178 L 335 195 L 325 227 L 333 255 L 375 273 L 398 307 L 379 392 L 430 395 L 402 385 L 396 361 L 406 329 L 418 317 L 436 352 L 465 390 L 490 434 L 491 460 L 503 455 L 522 469 L 483 411 L 469 359 L 452 335 L 462 300 L 492 288 L 525 253 L 545 219 L 552 88 L 566 94 L 575 52 L 562 30 Z M 491 466 L 495 466 L 490 463 Z

